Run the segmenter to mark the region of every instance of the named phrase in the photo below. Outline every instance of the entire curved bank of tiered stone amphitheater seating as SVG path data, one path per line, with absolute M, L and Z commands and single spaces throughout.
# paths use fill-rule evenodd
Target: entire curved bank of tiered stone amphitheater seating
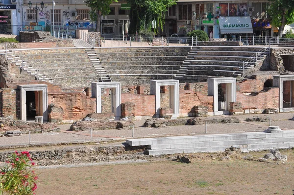
M 62 88 L 90 86 L 91 82 L 119 81 L 148 84 L 150 79 L 199 81 L 203 76 L 241 76 L 262 61 L 262 47 L 149 47 L 15 50 L 8 59 Z M 266 51 L 266 50 L 265 50 Z

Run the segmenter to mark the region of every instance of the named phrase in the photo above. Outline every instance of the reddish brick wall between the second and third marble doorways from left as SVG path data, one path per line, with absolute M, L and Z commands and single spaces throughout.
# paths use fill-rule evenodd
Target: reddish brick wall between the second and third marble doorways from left
M 135 116 L 153 116 L 155 114 L 155 96 L 127 94 L 121 95 L 122 103 L 133 102 L 136 104 Z

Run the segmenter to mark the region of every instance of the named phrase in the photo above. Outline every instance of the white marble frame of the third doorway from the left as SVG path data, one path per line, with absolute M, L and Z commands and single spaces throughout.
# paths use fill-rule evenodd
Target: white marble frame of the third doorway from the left
M 180 113 L 179 81 L 172 79 L 150 81 L 150 94 L 155 95 L 156 117 L 160 117 L 160 86 L 170 86 L 170 108 L 172 108 L 173 111 L 172 118 L 178 117 Z

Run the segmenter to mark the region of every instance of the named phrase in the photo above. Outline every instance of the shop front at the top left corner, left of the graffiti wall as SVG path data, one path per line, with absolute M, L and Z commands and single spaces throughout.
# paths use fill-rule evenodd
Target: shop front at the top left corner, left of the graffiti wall
M 17 34 L 15 4 L 0 5 L 0 34 Z

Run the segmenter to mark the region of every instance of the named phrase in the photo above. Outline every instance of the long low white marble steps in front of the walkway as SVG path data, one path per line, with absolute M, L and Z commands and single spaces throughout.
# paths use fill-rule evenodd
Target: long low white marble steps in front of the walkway
M 126 143 L 147 146 L 148 155 L 217 152 L 230 146 L 240 147 L 241 151 L 289 148 L 294 146 L 294 130 L 127 139 Z

